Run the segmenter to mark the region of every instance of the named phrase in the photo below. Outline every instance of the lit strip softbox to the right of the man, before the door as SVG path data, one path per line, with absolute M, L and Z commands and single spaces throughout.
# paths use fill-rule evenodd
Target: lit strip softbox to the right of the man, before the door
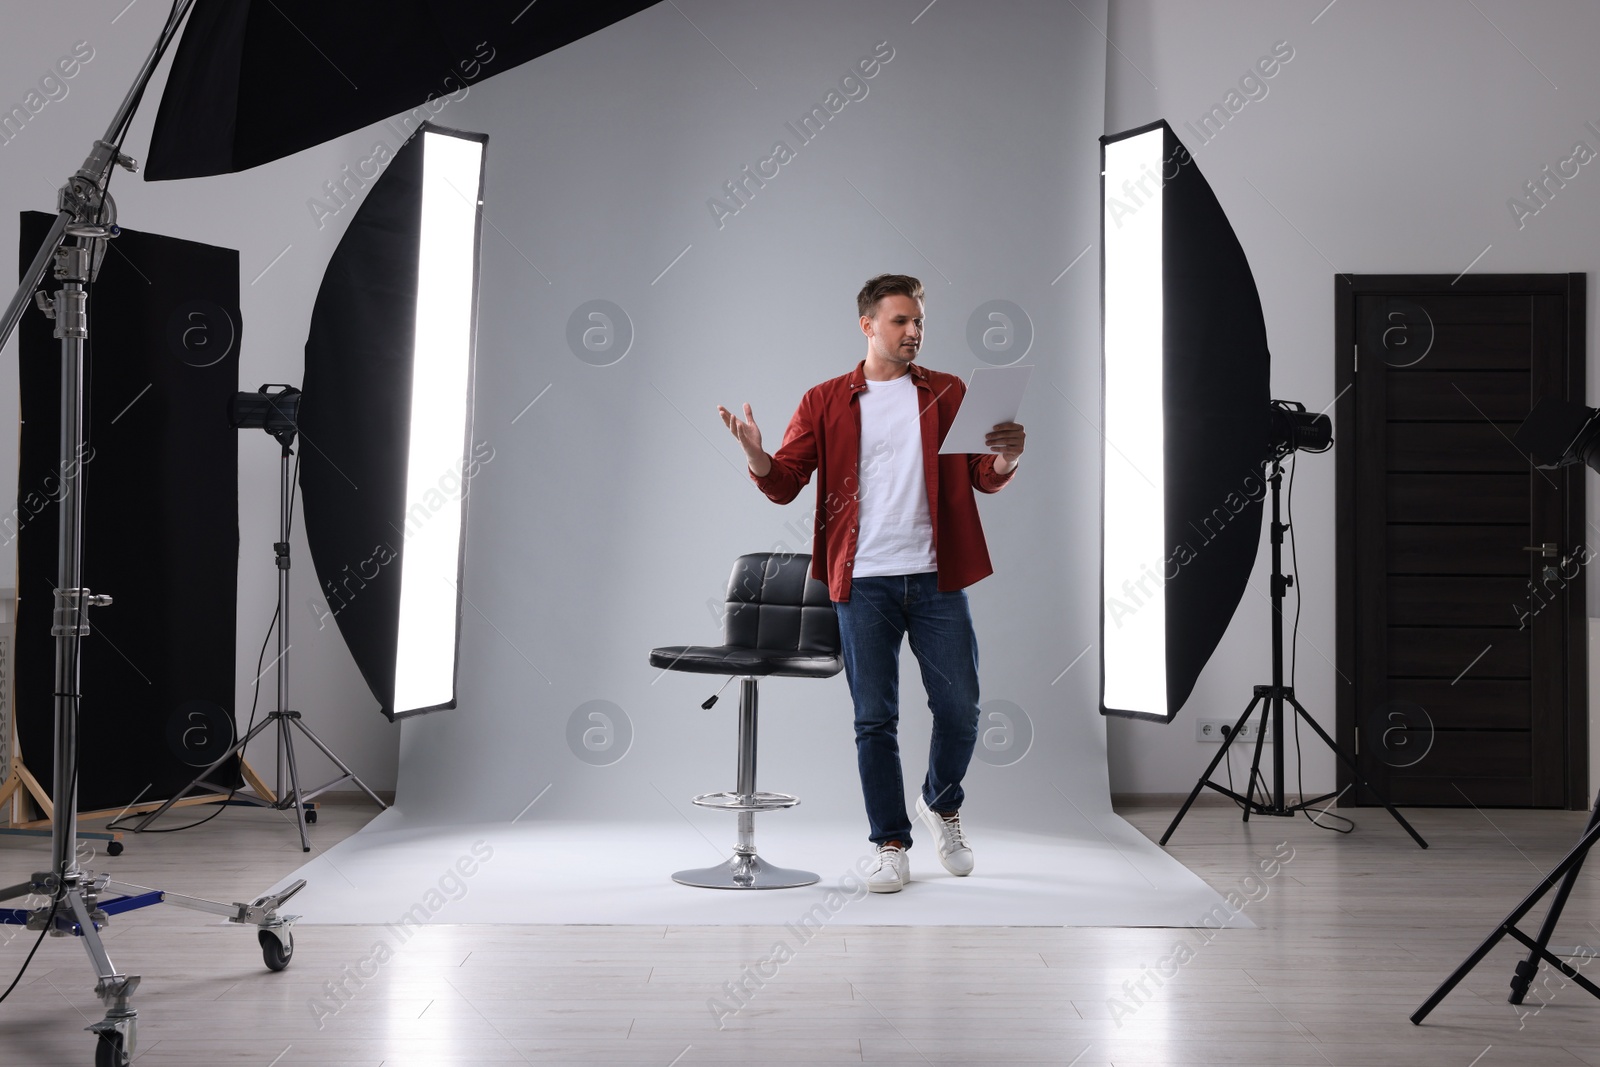
M 1170 721 L 1261 541 L 1270 355 L 1245 251 L 1165 122 L 1102 138 L 1101 712 Z

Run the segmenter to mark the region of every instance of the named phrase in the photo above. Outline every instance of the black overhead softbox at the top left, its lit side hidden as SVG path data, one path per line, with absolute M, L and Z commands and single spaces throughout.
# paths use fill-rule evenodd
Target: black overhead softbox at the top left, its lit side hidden
M 229 174 L 421 106 L 437 114 L 656 2 L 197 0 L 144 176 Z

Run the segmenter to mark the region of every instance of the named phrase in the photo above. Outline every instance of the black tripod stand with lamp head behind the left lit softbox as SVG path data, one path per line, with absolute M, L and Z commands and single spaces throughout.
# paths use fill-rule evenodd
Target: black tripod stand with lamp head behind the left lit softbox
M 272 808 L 275 811 L 294 809 L 294 822 L 301 835 L 301 851 L 310 851 L 310 840 L 306 837 L 306 824 L 317 821 L 317 809 L 307 811 L 306 801 L 328 792 L 334 785 L 344 782 L 355 782 L 363 793 L 373 798 L 381 809 L 387 808 L 378 793 L 366 787 L 355 771 L 352 771 L 344 760 L 334 755 L 333 749 L 323 744 L 322 737 L 312 733 L 306 720 L 301 718 L 299 712 L 291 712 L 288 709 L 288 693 L 290 693 L 290 526 L 293 525 L 294 515 L 294 478 L 290 472 L 290 458 L 294 454 L 294 435 L 296 414 L 299 411 L 301 390 L 291 386 L 277 386 L 278 392 L 269 394 L 267 390 L 274 386 L 262 386 L 254 394 L 238 394 L 232 403 L 234 426 L 264 429 L 274 438 L 277 438 L 280 446 L 278 454 L 278 539 L 272 544 L 274 558 L 278 566 L 278 611 L 277 611 L 277 632 L 278 632 L 278 656 L 274 661 L 277 669 L 278 683 L 278 705 L 275 710 L 269 712 L 259 725 L 256 725 L 250 733 L 234 742 L 234 747 L 224 752 L 211 766 L 200 771 L 192 782 L 184 785 L 181 790 L 173 793 L 173 797 L 147 814 L 139 825 L 134 827 L 134 833 L 142 832 L 158 817 L 162 817 L 173 805 L 187 797 L 197 789 L 205 789 L 205 792 L 226 792 L 222 785 L 216 785 L 206 777 L 216 771 L 216 768 L 227 763 L 235 755 L 243 758 L 245 749 L 254 741 L 262 731 L 277 726 L 278 731 L 278 773 L 277 773 L 277 795 L 270 797 L 251 797 L 250 793 L 237 793 L 238 800 L 245 803 L 256 805 L 259 808 Z M 299 787 L 299 768 L 294 763 L 294 729 L 299 729 L 306 737 L 317 745 L 328 760 L 339 768 L 341 774 L 317 789 L 309 792 Z M 285 779 L 285 771 L 288 777 Z M 285 787 L 286 782 L 286 787 Z

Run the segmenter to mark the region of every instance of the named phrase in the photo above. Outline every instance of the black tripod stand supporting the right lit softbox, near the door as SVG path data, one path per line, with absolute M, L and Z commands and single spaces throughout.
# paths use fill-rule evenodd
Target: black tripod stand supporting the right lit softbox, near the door
M 1216 757 L 1213 757 L 1211 766 L 1208 766 L 1205 769 L 1205 774 L 1200 776 L 1200 781 L 1195 782 L 1194 790 L 1189 793 L 1189 800 L 1186 800 L 1184 806 L 1178 809 L 1178 814 L 1173 817 L 1173 824 L 1166 827 L 1166 833 L 1162 835 L 1160 840 L 1162 845 L 1166 845 L 1166 840 L 1178 829 L 1178 824 L 1184 821 L 1186 814 L 1189 814 L 1189 808 L 1200 795 L 1200 790 L 1206 787 L 1214 789 L 1224 797 L 1232 797 L 1237 803 L 1240 803 L 1245 808 L 1245 822 L 1250 822 L 1251 813 L 1261 816 L 1293 817 L 1299 811 L 1314 808 L 1315 805 L 1320 805 L 1325 800 L 1333 800 L 1339 795 L 1338 792 L 1333 792 L 1333 793 L 1323 793 L 1322 797 L 1315 797 L 1312 800 L 1302 800 L 1298 805 L 1285 803 L 1283 704 L 1293 707 L 1294 713 L 1304 718 L 1306 723 L 1314 731 L 1317 731 L 1317 736 L 1322 737 L 1330 749 L 1333 749 L 1333 753 L 1341 760 L 1344 760 L 1344 765 L 1350 768 L 1350 774 L 1355 776 L 1357 782 L 1370 789 L 1373 795 L 1378 795 L 1378 790 L 1373 789 L 1365 777 L 1362 777 L 1362 771 L 1360 768 L 1355 766 L 1355 760 L 1346 755 L 1344 750 L 1339 749 L 1339 745 L 1333 741 L 1333 737 L 1330 737 L 1323 731 L 1323 728 L 1317 723 L 1317 720 L 1310 717 L 1310 712 L 1307 712 L 1301 705 L 1301 702 L 1294 699 L 1294 688 L 1283 685 L 1283 598 L 1290 584 L 1293 582 L 1293 579 L 1283 573 L 1283 533 L 1288 530 L 1288 523 L 1278 520 L 1280 517 L 1278 499 L 1283 483 L 1285 454 L 1288 453 L 1283 450 L 1278 450 L 1278 453 L 1274 454 L 1272 477 L 1267 478 L 1267 482 L 1272 485 L 1272 685 L 1258 685 L 1254 688 L 1254 696 L 1251 697 L 1250 705 L 1245 709 L 1245 713 L 1238 717 L 1238 721 L 1234 723 L 1234 729 L 1230 729 L 1227 736 L 1222 739 L 1222 747 L 1218 750 Z M 1213 782 L 1211 774 L 1216 771 L 1218 763 L 1221 763 L 1227 757 L 1229 745 L 1234 744 L 1234 739 L 1238 737 L 1238 731 L 1243 729 L 1246 721 L 1250 721 L 1250 717 L 1256 712 L 1258 704 L 1261 705 L 1261 728 L 1256 731 L 1256 755 L 1250 763 L 1250 789 L 1246 790 L 1245 795 L 1240 795 L 1232 789 L 1226 789 Z M 1272 723 L 1272 776 L 1274 776 L 1272 793 L 1269 797 L 1266 793 L 1266 789 L 1262 789 L 1262 798 L 1256 800 L 1256 777 L 1261 768 L 1261 745 L 1266 741 L 1266 734 L 1262 731 L 1266 729 L 1269 720 Z M 1405 827 L 1405 832 L 1411 835 L 1411 840 L 1414 840 L 1422 848 L 1427 848 L 1427 841 L 1424 841 L 1422 835 L 1419 835 L 1414 829 L 1411 829 L 1411 824 L 1405 821 L 1405 816 L 1395 811 L 1395 806 L 1389 803 L 1384 797 L 1378 795 L 1378 798 L 1379 801 L 1382 801 L 1384 808 L 1389 809 L 1389 814 L 1395 817 L 1395 822 Z

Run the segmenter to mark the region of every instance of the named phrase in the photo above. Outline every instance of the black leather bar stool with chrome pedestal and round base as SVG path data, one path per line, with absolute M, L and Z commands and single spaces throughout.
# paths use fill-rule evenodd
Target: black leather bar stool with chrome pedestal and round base
M 755 789 L 755 685 L 760 677 L 832 678 L 845 669 L 838 619 L 827 585 L 810 574 L 811 557 L 782 552 L 741 555 L 728 577 L 722 645 L 654 648 L 650 664 L 666 670 L 744 675 L 739 688 L 738 785 L 701 793 L 694 803 L 739 814 L 733 856 L 715 867 L 680 870 L 672 880 L 706 889 L 790 889 L 819 880 L 810 870 L 774 867 L 755 854 L 755 813 L 794 808 L 798 797 Z M 715 697 L 712 697 L 715 699 Z

